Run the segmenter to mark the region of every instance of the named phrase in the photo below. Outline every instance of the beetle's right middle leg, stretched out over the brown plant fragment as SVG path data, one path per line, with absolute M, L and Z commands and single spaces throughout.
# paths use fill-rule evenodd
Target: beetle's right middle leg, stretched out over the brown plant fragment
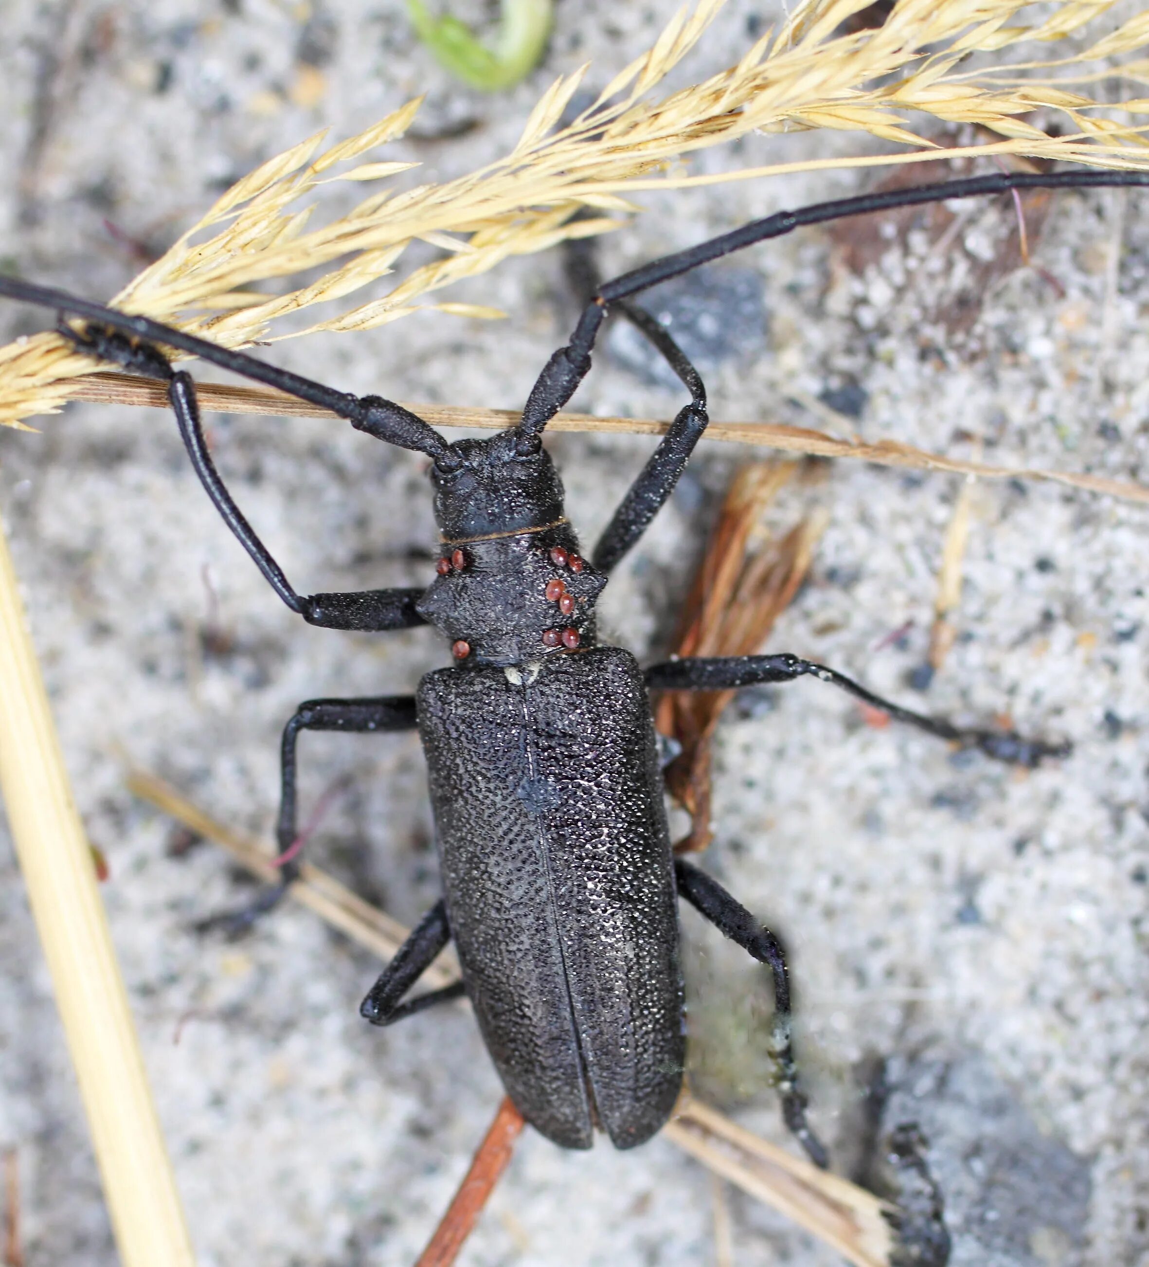
M 682 660 L 666 660 L 651 665 L 646 670 L 646 685 L 651 691 L 736 691 L 764 682 L 796 682 L 798 678 L 813 677 L 818 682 L 828 682 L 840 687 L 858 699 L 880 708 L 894 721 L 916 726 L 927 735 L 960 744 L 962 748 L 981 749 L 987 756 L 1011 765 L 1025 765 L 1030 769 L 1040 765 L 1048 756 L 1068 756 L 1073 745 L 1068 740 L 1049 744 L 1040 739 L 1025 739 L 1016 731 L 981 730 L 975 726 L 955 726 L 945 717 L 927 717 L 924 713 L 903 708 L 875 696 L 872 691 L 847 678 L 835 669 L 812 660 L 802 660 L 797 655 L 730 655 L 714 658 L 685 656 Z

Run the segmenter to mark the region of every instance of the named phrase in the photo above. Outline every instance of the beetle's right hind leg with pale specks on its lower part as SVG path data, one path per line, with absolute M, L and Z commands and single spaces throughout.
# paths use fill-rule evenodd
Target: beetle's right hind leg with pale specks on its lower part
M 798 1085 L 798 1067 L 794 1063 L 790 1012 L 790 982 L 785 954 L 778 938 L 760 925 L 754 916 L 735 901 L 730 893 L 706 872 L 676 858 L 674 874 L 679 897 L 684 897 L 704 919 L 731 941 L 737 944 L 759 963 L 764 963 L 774 976 L 774 1028 L 770 1035 L 770 1055 L 778 1066 L 778 1095 L 782 1098 L 782 1119 L 790 1134 L 806 1149 L 807 1156 L 823 1169 L 830 1164 L 826 1145 L 813 1133 L 806 1119 L 807 1098 Z

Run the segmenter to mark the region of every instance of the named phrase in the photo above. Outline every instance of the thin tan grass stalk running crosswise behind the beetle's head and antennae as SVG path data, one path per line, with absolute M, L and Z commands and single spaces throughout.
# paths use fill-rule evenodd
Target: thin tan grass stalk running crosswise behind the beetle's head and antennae
M 133 379 L 127 374 L 95 374 L 89 379 L 72 381 L 68 394 L 76 400 L 100 404 L 152 405 L 167 408 L 163 385 L 146 379 Z M 204 409 L 223 413 L 270 414 L 293 418 L 333 418 L 334 414 L 314 405 L 284 395 L 270 388 L 227 386 L 217 383 L 200 385 L 199 398 Z M 436 427 L 479 427 L 497 430 L 511 427 L 518 413 L 511 409 L 473 409 L 448 404 L 405 403 L 421 418 Z M 547 431 L 614 431 L 625 435 L 661 436 L 669 422 L 652 418 L 599 418 L 589 413 L 560 413 L 547 423 Z M 987 462 L 963 461 L 931 454 L 913 445 L 896 440 L 878 440 L 863 443 L 827 436 L 809 427 L 785 427 L 769 422 L 712 422 L 703 440 L 723 440 L 737 445 L 758 445 L 778 449 L 787 454 L 809 457 L 853 457 L 878 466 L 903 466 L 916 470 L 948 471 L 953 475 L 977 475 L 981 479 L 1031 479 L 1051 484 L 1065 484 L 1089 493 L 1105 493 L 1126 502 L 1149 502 L 1149 487 L 1131 480 L 1107 479 L 1076 471 L 1050 471 L 1040 468 L 991 466 Z

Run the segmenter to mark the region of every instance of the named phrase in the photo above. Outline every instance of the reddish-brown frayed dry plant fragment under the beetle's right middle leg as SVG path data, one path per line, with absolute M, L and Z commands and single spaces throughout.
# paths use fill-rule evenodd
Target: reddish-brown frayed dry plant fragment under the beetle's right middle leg
M 761 519 L 797 470 L 794 462 L 754 462 L 735 476 L 674 640 L 676 655 L 754 655 L 809 570 L 821 519 L 803 519 L 780 538 Z M 711 831 L 711 741 L 735 691 L 666 691 L 655 725 L 682 744 L 666 768 L 670 794 L 690 815 L 676 853 L 706 849 Z

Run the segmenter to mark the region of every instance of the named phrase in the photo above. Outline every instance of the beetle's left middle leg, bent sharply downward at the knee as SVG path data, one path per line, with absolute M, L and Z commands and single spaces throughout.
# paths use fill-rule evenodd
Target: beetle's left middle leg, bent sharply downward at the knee
M 279 844 L 282 879 L 275 888 L 262 892 L 243 910 L 215 915 L 200 924 L 200 929 L 223 927 L 234 935 L 251 927 L 265 912 L 272 910 L 299 878 L 299 830 L 295 796 L 296 746 L 303 730 L 343 730 L 355 734 L 374 734 L 388 730 L 414 730 L 414 696 L 378 696 L 364 699 L 308 699 L 284 726 L 280 746 L 280 801 L 275 836 Z

